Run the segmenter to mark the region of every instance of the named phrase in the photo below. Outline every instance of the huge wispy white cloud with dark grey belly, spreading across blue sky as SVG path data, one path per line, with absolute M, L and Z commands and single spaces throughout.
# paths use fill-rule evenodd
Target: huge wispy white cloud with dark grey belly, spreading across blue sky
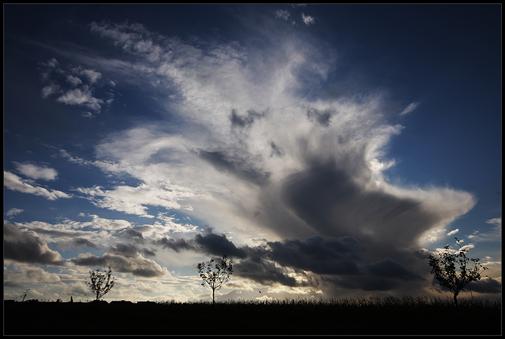
M 237 43 L 195 47 L 139 24 L 93 23 L 91 30 L 137 56 L 145 81 L 171 81 L 180 96 L 166 107 L 182 119 L 175 133 L 144 124 L 99 145 L 98 157 L 109 171 L 145 182 L 98 192 L 100 206 L 139 215 L 147 205 L 191 206 L 194 215 L 222 221 L 217 227 L 223 230 L 240 220 L 242 229 L 267 226 L 281 237 L 350 232 L 386 241 L 389 235 L 377 234 L 377 227 L 387 224 L 412 245 L 475 205 L 466 192 L 398 187 L 384 180 L 382 171 L 393 164 L 384 147 L 402 126 L 388 122 L 391 113 L 382 94 L 326 100 L 299 95 L 333 67 L 333 59 L 325 62 L 321 55 L 334 52 L 322 52 L 318 42 L 286 35 L 253 59 L 257 51 Z M 321 175 L 330 181 L 318 181 Z M 161 185 L 167 182 L 170 188 Z M 119 194 L 126 191 L 131 194 Z M 96 188 L 82 192 L 97 194 Z M 298 201 L 298 195 L 312 205 Z M 141 200 L 142 206 L 134 203 Z M 409 224 L 412 217 L 417 224 Z

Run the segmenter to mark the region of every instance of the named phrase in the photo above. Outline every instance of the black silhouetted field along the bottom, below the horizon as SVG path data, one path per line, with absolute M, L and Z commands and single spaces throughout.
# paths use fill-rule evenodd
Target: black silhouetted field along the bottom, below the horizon
M 501 301 L 4 301 L 4 335 L 500 335 Z

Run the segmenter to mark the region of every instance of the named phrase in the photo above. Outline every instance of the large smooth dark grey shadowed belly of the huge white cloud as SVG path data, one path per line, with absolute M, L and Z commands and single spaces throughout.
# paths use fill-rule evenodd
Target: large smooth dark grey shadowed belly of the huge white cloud
M 367 245 L 369 253 L 381 251 L 374 254 L 384 258 L 394 255 L 394 249 L 409 248 L 440 217 L 413 199 L 360 186 L 359 179 L 369 181 L 371 176 L 364 162 L 360 155 L 340 162 L 314 161 L 285 181 L 283 197 L 317 233 L 354 237 Z

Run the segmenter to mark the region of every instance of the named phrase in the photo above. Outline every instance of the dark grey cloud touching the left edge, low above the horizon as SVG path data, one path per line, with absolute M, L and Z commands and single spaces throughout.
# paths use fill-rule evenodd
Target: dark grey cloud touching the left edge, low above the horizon
M 37 233 L 21 231 L 12 224 L 4 224 L 4 259 L 31 264 L 65 264 L 60 253 L 49 249 Z

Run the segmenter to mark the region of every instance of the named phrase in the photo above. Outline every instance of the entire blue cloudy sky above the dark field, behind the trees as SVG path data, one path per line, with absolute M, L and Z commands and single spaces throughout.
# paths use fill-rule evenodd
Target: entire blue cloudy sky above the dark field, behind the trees
M 500 298 L 501 4 L 4 4 L 4 299 L 445 298 L 455 237 Z

